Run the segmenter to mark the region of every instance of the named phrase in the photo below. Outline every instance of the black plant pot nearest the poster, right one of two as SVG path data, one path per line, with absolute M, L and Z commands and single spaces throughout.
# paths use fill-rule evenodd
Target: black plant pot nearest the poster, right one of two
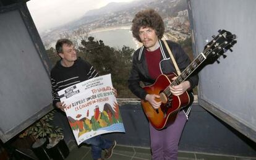
M 47 150 L 53 160 L 64 160 L 69 156 L 69 148 L 67 147 L 64 139 L 60 140 L 59 143 Z

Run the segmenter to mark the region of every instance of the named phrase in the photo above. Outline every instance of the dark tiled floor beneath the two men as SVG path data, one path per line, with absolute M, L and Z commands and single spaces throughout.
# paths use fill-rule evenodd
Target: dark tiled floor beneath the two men
M 92 160 L 90 147 L 77 146 L 73 143 L 69 143 L 70 154 L 66 160 Z M 117 145 L 114 149 L 114 154 L 110 160 L 148 160 L 151 159 L 149 148 L 138 148 L 131 146 Z M 256 158 L 246 158 L 237 156 L 223 156 L 218 154 L 205 154 L 205 153 L 189 153 L 179 151 L 178 160 L 256 160 Z

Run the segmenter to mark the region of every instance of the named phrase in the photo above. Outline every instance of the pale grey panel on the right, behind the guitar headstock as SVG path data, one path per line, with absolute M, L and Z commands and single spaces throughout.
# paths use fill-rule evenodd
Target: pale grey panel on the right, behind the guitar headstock
M 207 65 L 199 73 L 200 106 L 256 141 L 256 68 L 254 0 L 190 0 L 189 15 L 194 35 L 194 54 L 203 52 L 206 40 L 218 30 L 237 36 L 233 53 L 220 64 Z

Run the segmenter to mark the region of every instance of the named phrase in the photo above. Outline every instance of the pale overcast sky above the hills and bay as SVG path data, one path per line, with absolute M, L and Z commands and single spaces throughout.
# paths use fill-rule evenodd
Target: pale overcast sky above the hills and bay
M 106 6 L 109 2 L 134 0 L 30 0 L 28 10 L 38 32 L 79 19 L 85 12 Z

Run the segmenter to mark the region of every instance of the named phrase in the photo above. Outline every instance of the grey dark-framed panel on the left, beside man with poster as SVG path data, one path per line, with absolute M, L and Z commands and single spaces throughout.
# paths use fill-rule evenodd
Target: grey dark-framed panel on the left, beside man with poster
M 3 142 L 52 109 L 48 62 L 25 4 L 0 6 L 0 138 Z

